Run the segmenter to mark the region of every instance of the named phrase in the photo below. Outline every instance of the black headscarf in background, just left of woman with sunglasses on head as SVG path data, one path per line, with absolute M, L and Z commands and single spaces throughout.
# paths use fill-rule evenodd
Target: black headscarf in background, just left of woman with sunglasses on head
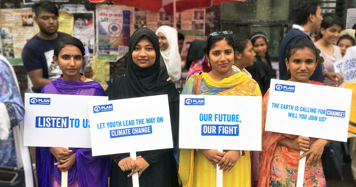
M 185 62 L 185 69 L 189 70 L 193 61 L 204 57 L 204 43 L 205 40 L 194 40 L 188 50 L 187 61 Z

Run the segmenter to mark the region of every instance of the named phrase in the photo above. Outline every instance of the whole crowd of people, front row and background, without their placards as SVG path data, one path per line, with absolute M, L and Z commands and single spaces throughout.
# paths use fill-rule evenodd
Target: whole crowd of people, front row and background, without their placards
M 355 30 L 342 31 L 343 22 L 335 14 L 321 15 L 319 0 L 291 2 L 293 27 L 279 45 L 279 78 L 339 87 L 344 77 L 335 72 L 333 63 L 355 46 Z M 216 31 L 206 40 L 193 41 L 185 63 L 188 76 L 179 93 L 174 82 L 182 79 L 184 35 L 170 26 L 160 26 L 156 32 L 138 28 L 129 41 L 125 75 L 104 90 L 91 79 L 95 69 L 85 62 L 83 43 L 57 31 L 56 6 L 40 1 L 33 5 L 33 12 L 40 32 L 26 43 L 22 61 L 35 93 L 108 96 L 109 100 L 168 94 L 174 145 L 173 149 L 137 152 L 136 160 L 129 153 L 92 156 L 88 148 L 36 147 L 38 187 L 61 186 L 61 171 L 68 171 L 70 187 L 131 186 L 136 172 L 141 187 L 210 187 L 216 185 L 216 170 L 223 170 L 224 187 L 287 187 L 296 185 L 303 157 L 307 158 L 304 186 L 326 186 L 325 167 L 340 173 L 348 150 L 345 142 L 264 130 L 269 85 L 276 78 L 265 33 L 247 38 Z M 16 74 L 2 56 L 0 88 L 0 169 L 15 168 L 20 173 L 16 180 L 31 187 L 35 185 L 31 160 L 19 133 L 25 109 Z M 179 149 L 179 94 L 263 97 L 262 108 L 256 111 L 263 114 L 262 151 Z M 324 151 L 328 149 L 336 154 L 334 166 Z M 351 159 L 355 161 L 356 155 Z M 351 167 L 356 180 L 356 166 Z

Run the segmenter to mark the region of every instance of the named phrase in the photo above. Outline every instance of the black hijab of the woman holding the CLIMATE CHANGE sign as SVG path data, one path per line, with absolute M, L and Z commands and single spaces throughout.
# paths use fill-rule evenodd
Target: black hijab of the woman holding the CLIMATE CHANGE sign
M 132 60 L 132 51 L 143 36 L 152 42 L 156 52 L 156 61 L 152 66 L 141 68 Z M 168 94 L 169 102 L 179 100 L 179 92 L 174 83 L 168 79 L 157 35 L 147 27 L 137 29 L 130 38 L 129 55 L 127 57 L 126 74 L 119 76 L 105 91 L 109 100 L 135 98 L 151 95 Z

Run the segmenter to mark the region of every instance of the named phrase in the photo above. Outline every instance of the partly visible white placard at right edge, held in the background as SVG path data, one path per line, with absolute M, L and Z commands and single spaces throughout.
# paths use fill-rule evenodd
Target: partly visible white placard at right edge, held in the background
M 349 9 L 348 9 L 349 10 Z M 344 82 L 356 81 L 356 46 L 347 48 L 344 57 L 334 63 L 336 73 L 345 77 Z

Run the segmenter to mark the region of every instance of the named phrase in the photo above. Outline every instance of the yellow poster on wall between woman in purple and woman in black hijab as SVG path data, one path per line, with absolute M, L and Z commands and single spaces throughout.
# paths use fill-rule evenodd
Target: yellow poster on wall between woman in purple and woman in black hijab
M 92 59 L 91 64 L 91 68 L 93 68 L 94 71 L 93 80 L 98 82 L 104 88 L 104 90 L 106 90 L 106 88 L 108 88 L 107 81 L 110 80 L 109 60 Z

